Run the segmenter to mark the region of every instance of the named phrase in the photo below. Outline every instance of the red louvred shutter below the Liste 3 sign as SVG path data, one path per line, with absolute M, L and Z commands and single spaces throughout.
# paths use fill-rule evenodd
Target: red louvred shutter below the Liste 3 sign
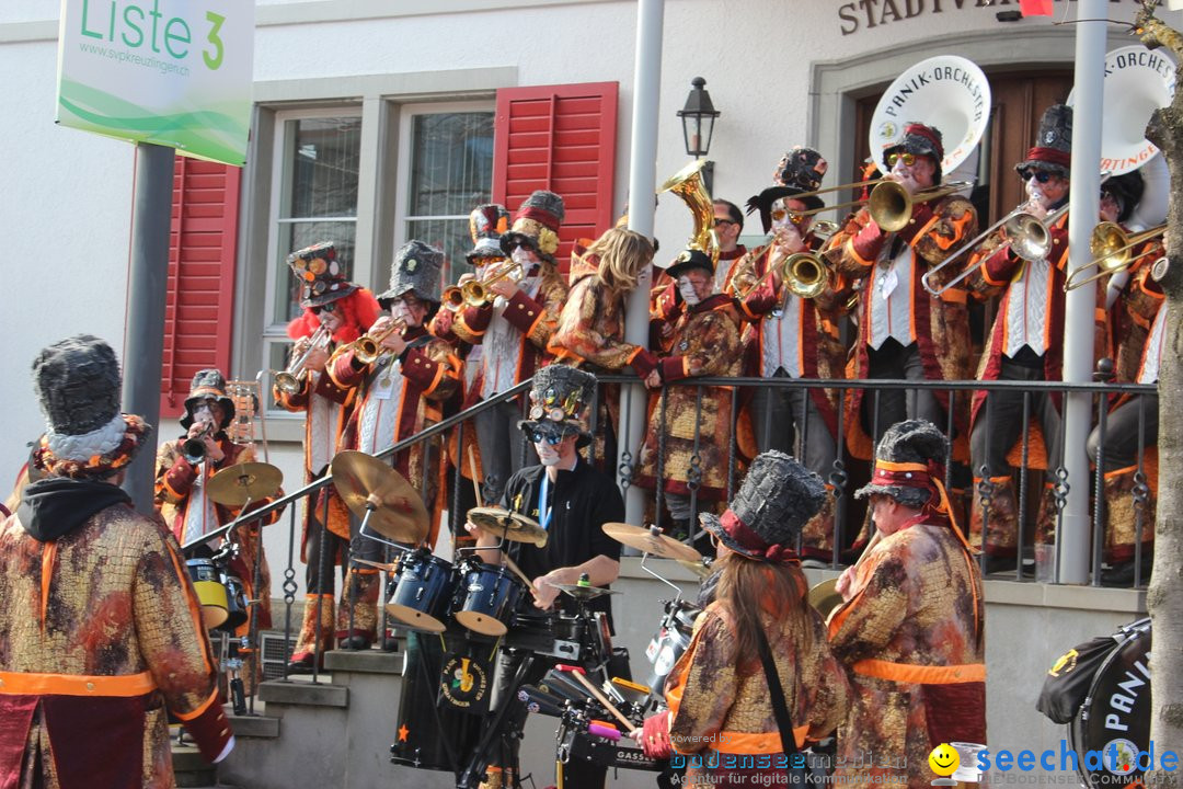
M 160 415 L 180 416 L 193 374 L 216 367 L 230 375 L 238 242 L 238 167 L 177 156 Z

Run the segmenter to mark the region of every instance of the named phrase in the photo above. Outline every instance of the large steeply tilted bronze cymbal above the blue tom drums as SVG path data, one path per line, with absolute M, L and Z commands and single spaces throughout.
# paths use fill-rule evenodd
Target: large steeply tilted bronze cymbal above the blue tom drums
M 418 544 L 427 536 L 427 507 L 407 479 L 364 452 L 338 452 L 329 464 L 341 500 L 387 539 Z

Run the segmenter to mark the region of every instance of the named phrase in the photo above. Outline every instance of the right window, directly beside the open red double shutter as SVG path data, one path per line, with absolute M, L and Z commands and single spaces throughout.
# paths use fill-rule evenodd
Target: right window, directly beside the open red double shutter
M 489 202 L 493 182 L 492 108 L 426 104 L 402 108 L 400 173 L 406 185 L 397 206 L 402 221 L 395 248 L 411 239 L 444 250 L 442 284 L 470 271 L 468 214 Z M 392 254 L 393 258 L 393 254 Z M 380 266 L 383 274 L 388 265 Z M 382 284 L 386 276 L 380 277 Z

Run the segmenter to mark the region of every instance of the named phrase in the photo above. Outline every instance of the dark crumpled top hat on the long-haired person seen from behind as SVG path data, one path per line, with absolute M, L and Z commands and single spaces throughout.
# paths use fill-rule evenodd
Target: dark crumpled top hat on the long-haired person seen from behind
M 826 502 L 821 477 L 771 450 L 751 461 L 723 516 L 699 513 L 703 528 L 737 554 L 759 561 L 795 558 L 802 528 Z

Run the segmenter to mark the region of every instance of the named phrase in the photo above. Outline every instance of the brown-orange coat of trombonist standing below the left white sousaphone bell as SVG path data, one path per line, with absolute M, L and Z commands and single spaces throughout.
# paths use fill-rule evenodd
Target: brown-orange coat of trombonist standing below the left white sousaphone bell
M 906 326 L 900 344 L 916 342 L 924 364 L 924 375 L 930 381 L 958 381 L 969 376 L 969 313 L 965 309 L 965 291 L 953 287 L 939 298 L 932 297 L 920 284 L 922 276 L 944 261 L 945 257 L 977 233 L 977 214 L 968 200 L 946 196 L 917 203 L 912 218 L 899 233 L 884 233 L 866 209 L 853 214 L 846 225 L 827 242 L 826 257 L 834 269 L 848 280 L 862 282 L 859 298 L 859 338 L 851 350 L 847 364 L 848 379 L 862 379 L 870 370 L 868 349 L 875 342 L 872 311 L 875 298 L 886 300 L 894 297 L 893 305 L 903 309 L 900 317 Z M 896 241 L 900 239 L 903 244 Z M 898 252 L 892 257 L 893 247 Z M 911 259 L 911 266 L 903 265 Z M 946 266 L 932 284 L 952 279 L 956 266 Z M 949 394 L 935 393 L 937 401 L 949 408 Z M 964 399 L 962 399 L 964 400 Z M 853 389 L 846 399 L 847 444 L 855 457 L 871 458 L 871 436 L 862 429 L 859 419 L 862 390 Z M 955 408 L 953 418 L 962 434 L 968 433 L 968 414 Z M 964 442 L 961 442 L 964 444 Z M 955 452 L 964 454 L 968 447 L 955 444 Z

